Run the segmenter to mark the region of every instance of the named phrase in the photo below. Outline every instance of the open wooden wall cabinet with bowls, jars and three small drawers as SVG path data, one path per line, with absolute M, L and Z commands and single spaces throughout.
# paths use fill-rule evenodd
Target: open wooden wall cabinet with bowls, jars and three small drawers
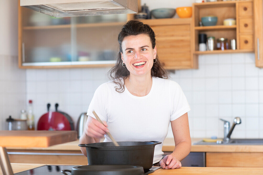
M 254 52 L 254 18 L 253 1 L 218 1 L 193 4 L 193 53 L 194 54 L 219 54 L 219 53 L 239 53 Z M 217 16 L 218 22 L 214 26 L 199 26 L 201 18 L 204 16 Z M 235 18 L 236 25 L 223 25 L 223 20 Z M 198 34 L 205 33 L 207 37 L 227 38 L 236 40 L 236 49 L 232 50 L 229 43 L 227 50 L 209 50 L 200 52 Z

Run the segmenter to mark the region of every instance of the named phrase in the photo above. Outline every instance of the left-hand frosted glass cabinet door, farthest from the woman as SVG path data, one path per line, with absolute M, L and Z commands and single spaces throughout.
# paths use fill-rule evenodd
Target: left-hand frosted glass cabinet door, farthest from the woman
M 71 61 L 69 17 L 55 18 L 27 8 L 22 13 L 22 65 Z

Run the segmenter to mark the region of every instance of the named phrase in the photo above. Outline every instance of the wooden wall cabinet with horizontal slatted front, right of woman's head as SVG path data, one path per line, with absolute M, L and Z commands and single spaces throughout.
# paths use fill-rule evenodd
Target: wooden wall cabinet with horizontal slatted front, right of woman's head
M 191 52 L 191 18 L 145 19 L 156 35 L 159 59 L 166 69 L 197 69 L 198 58 Z

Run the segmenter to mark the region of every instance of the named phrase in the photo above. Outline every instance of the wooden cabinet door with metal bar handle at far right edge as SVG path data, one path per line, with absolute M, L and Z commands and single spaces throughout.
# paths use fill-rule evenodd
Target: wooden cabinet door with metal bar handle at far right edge
M 263 1 L 254 0 L 255 20 L 255 62 L 256 66 L 263 68 Z

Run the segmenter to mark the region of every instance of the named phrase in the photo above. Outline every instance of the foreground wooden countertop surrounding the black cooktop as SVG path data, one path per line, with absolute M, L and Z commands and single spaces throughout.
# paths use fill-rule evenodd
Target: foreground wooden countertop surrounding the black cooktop
M 14 173 L 26 171 L 31 168 L 43 166 L 45 164 L 28 164 L 28 163 L 11 163 Z M 170 174 L 231 174 L 231 175 L 243 175 L 243 174 L 262 174 L 263 168 L 221 168 L 221 167 L 181 167 L 178 169 L 157 169 L 151 175 L 170 175 Z M 2 175 L 2 171 L 0 171 Z

